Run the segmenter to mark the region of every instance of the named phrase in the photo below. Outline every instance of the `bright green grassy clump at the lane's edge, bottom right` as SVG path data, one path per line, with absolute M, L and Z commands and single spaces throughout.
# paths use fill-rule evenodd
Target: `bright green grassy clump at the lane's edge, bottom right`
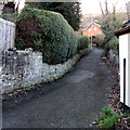
M 120 116 L 115 113 L 109 106 L 103 108 L 102 115 L 96 119 L 100 128 L 109 129 L 118 121 Z

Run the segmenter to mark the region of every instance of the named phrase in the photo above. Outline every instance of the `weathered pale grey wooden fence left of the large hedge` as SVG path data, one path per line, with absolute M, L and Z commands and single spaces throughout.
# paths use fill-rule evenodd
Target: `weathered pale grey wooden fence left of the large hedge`
M 0 18 L 0 50 L 14 48 L 15 24 Z

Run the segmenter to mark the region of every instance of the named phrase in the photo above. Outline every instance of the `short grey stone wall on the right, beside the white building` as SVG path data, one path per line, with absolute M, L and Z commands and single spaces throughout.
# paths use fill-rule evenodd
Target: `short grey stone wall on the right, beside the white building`
M 116 50 L 109 50 L 108 58 L 115 64 L 119 65 L 119 53 Z

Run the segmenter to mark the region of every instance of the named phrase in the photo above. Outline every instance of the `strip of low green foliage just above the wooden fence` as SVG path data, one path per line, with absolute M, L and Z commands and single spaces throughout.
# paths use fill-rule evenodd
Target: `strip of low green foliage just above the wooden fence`
M 18 16 L 18 13 L 11 13 L 11 14 L 1 14 L 0 17 L 10 22 L 15 23 L 16 18 Z

